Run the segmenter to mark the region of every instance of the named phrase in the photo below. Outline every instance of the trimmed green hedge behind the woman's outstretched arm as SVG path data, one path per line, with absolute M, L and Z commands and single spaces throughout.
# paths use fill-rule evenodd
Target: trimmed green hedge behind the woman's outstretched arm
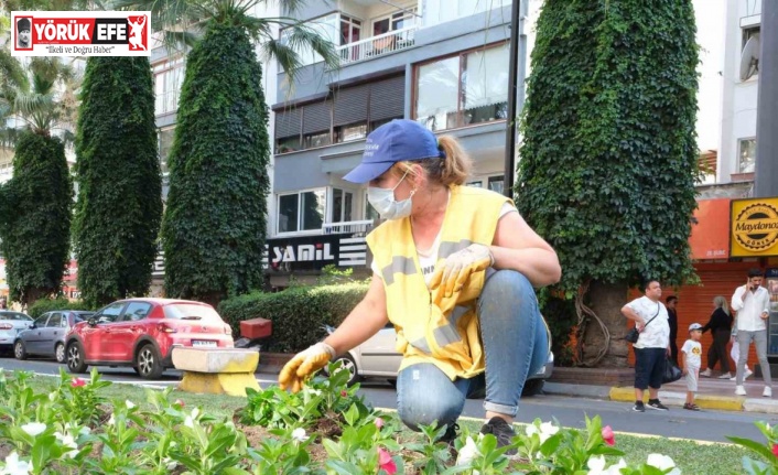
M 367 293 L 368 285 L 354 282 L 338 285 L 295 287 L 277 293 L 253 292 L 221 301 L 219 314 L 233 326 L 236 339 L 240 322 L 267 319 L 273 334 L 271 352 L 295 353 L 322 339 L 322 325 L 337 326 Z

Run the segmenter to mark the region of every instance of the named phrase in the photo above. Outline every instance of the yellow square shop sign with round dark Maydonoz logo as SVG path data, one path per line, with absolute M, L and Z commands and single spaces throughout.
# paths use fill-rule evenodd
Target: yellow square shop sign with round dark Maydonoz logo
M 733 199 L 730 256 L 778 256 L 778 197 Z

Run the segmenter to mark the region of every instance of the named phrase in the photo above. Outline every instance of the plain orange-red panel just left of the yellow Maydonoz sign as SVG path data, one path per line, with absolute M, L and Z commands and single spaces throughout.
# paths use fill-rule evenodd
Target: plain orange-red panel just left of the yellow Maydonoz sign
M 692 259 L 730 258 L 730 198 L 701 199 L 694 212 L 689 245 Z

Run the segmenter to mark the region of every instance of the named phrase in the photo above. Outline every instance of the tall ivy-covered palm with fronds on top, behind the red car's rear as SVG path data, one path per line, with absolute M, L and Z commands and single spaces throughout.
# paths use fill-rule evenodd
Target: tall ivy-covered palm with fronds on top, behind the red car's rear
M 162 223 L 165 291 L 212 304 L 262 284 L 267 234 L 268 107 L 257 42 L 291 76 L 313 50 L 337 65 L 333 45 L 289 18 L 257 18 L 264 0 L 125 0 L 149 10 L 168 39 L 188 41 Z M 280 1 L 290 11 L 300 1 Z M 181 32 L 181 24 L 191 25 Z M 283 40 L 272 26 L 288 28 Z M 177 28 L 176 28 L 177 26 Z

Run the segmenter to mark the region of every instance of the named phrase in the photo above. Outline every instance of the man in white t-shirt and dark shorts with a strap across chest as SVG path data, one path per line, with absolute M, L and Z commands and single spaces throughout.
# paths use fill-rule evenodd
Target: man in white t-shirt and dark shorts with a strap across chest
M 659 401 L 659 388 L 664 378 L 664 365 L 670 355 L 670 324 L 664 305 L 659 301 L 662 287 L 649 281 L 644 288 L 645 295 L 622 307 L 622 313 L 635 322 L 640 332 L 635 349 L 635 407 L 634 411 L 645 412 L 642 398 L 648 389 L 648 407 L 667 411 Z

